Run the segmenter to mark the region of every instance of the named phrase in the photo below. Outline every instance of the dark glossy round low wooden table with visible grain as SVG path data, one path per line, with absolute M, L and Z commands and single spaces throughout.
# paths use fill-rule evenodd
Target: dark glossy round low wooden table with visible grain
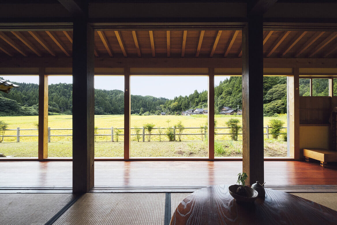
M 187 196 L 171 224 L 337 224 L 337 211 L 266 188 L 266 197 L 237 203 L 228 185 L 209 186 Z

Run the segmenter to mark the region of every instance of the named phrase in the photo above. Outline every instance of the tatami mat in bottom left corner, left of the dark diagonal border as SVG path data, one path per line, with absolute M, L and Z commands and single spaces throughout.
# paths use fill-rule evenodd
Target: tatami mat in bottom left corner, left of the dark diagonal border
M 72 194 L 0 194 L 0 224 L 45 224 Z

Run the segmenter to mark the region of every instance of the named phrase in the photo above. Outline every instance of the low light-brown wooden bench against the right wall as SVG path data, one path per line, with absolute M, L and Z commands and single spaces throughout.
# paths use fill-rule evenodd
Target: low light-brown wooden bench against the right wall
M 322 167 L 326 167 L 328 162 L 337 162 L 337 151 L 327 149 L 303 149 L 303 156 L 307 162 L 309 158 L 320 161 Z

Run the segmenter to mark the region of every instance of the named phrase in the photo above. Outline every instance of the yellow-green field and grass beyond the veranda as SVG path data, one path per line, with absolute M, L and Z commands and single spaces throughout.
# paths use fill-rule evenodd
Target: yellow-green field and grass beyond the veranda
M 226 127 L 226 121 L 231 118 L 242 120 L 241 116 L 215 115 L 217 127 Z M 285 122 L 286 115 L 279 117 L 264 117 L 264 126 L 270 119 L 279 119 Z M 8 123 L 8 129 L 36 128 L 37 116 L 12 116 L 0 117 L 0 120 Z M 173 127 L 179 121 L 185 127 L 205 126 L 207 115 L 194 116 L 131 116 L 131 127 L 142 127 L 146 123 L 153 123 L 155 127 Z M 48 116 L 48 126 L 51 128 L 71 128 L 71 115 Z M 111 134 L 111 127 L 123 128 L 123 115 L 95 115 L 95 126 L 99 128 L 109 128 L 107 130 L 97 130 L 97 134 Z M 6 131 L 6 135 L 16 135 L 16 130 Z M 157 133 L 158 130 L 154 130 Z M 185 129 L 183 133 L 200 133 L 198 129 Z M 264 132 L 265 129 L 264 129 Z M 71 130 L 51 130 L 52 135 L 71 134 Z M 123 133 L 123 131 L 122 131 Z M 131 130 L 134 133 L 134 130 Z M 142 131 L 141 131 L 142 133 Z M 217 129 L 217 133 L 228 133 L 228 129 Z M 22 130 L 21 135 L 37 134 L 37 130 Z M 207 143 L 202 141 L 202 135 L 184 135 L 181 142 L 169 142 L 166 135 L 151 136 L 151 142 L 137 142 L 136 137 L 131 136 L 131 157 L 207 157 Z M 270 136 L 271 138 L 271 136 Z M 204 138 L 203 138 L 204 139 Z M 111 142 L 111 136 L 97 136 L 95 142 L 95 157 L 123 157 L 123 136 L 119 136 L 119 142 Z M 141 139 L 142 140 L 142 139 Z M 146 140 L 146 139 L 145 139 Z M 178 140 L 178 136 L 177 136 Z M 229 135 L 215 136 L 215 156 L 216 157 L 235 157 L 242 156 L 242 135 L 239 141 L 230 140 Z M 49 157 L 71 157 L 72 149 L 71 136 L 52 136 L 51 143 L 48 143 Z M 284 157 L 286 156 L 286 142 L 281 140 L 265 139 L 265 156 Z M 0 153 L 12 155 L 14 157 L 37 157 L 37 137 L 21 137 L 20 143 L 16 142 L 16 137 L 5 137 L 4 142 L 0 143 Z

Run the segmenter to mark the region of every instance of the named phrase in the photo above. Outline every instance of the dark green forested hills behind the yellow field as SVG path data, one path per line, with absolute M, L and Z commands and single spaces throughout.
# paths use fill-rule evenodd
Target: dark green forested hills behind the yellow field
M 0 92 L 0 115 L 37 115 L 38 84 L 18 83 L 9 94 Z M 71 114 L 72 84 L 58 83 L 48 86 L 50 113 Z M 179 94 L 179 93 L 177 93 Z M 264 77 L 265 114 L 286 113 L 286 77 Z M 242 79 L 230 77 L 215 86 L 215 111 L 223 106 L 242 108 Z M 174 99 L 131 95 L 131 114 L 180 115 L 189 108 L 207 108 L 207 91 L 194 91 L 189 96 Z M 95 114 L 123 114 L 124 93 L 121 90 L 95 89 Z

